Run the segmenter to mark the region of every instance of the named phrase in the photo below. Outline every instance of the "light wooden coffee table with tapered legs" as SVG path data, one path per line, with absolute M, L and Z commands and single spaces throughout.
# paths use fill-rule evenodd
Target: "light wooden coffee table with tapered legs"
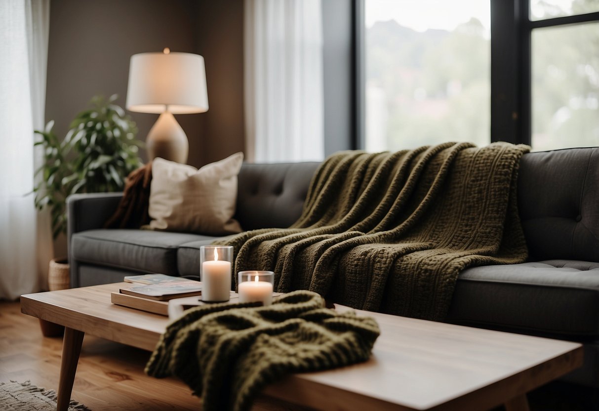
M 27 294 L 21 312 L 64 325 L 58 410 L 71 397 L 85 333 L 153 350 L 163 316 L 110 303 L 127 283 Z M 347 307 L 337 306 L 338 310 Z M 527 410 L 526 393 L 582 365 L 577 343 L 359 312 L 379 322 L 371 359 L 292 374 L 264 394 L 314 409 Z

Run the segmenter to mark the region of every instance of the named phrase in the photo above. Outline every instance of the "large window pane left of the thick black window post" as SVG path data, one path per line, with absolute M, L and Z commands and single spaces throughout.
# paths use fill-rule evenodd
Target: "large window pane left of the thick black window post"
M 366 149 L 491 141 L 490 2 L 365 0 Z

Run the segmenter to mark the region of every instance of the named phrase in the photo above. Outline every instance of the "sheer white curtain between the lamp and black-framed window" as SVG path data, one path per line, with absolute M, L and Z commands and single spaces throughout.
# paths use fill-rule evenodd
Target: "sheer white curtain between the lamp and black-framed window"
M 322 160 L 320 0 L 246 0 L 244 74 L 247 157 Z

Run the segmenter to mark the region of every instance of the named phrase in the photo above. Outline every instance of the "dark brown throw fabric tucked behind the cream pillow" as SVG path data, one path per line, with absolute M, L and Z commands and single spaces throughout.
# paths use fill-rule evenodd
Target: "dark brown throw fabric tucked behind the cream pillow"
M 125 191 L 119 207 L 104 224 L 104 228 L 140 228 L 150 223 L 148 204 L 152 162 L 131 171 L 125 182 Z

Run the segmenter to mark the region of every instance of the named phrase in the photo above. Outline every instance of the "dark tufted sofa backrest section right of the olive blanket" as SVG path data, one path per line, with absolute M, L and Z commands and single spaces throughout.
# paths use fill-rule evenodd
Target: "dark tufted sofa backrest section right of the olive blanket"
M 518 207 L 531 259 L 599 262 L 599 148 L 524 155 Z

